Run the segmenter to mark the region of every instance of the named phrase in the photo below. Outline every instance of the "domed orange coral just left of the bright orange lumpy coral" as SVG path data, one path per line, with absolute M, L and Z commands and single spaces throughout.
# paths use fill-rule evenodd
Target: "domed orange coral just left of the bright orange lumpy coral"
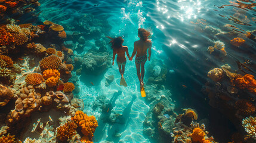
M 44 78 L 40 73 L 30 73 L 27 75 L 25 82 L 28 85 L 40 85 L 42 82 L 44 82 Z

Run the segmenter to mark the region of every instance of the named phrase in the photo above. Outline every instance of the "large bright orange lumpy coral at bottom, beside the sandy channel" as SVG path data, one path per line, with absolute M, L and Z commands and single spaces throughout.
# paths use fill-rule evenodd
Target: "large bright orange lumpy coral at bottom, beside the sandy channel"
M 93 133 L 95 132 L 95 129 L 98 127 L 98 122 L 95 119 L 95 117 L 89 117 L 82 111 L 76 111 L 75 116 L 73 116 L 71 120 L 73 120 L 78 126 L 82 128 L 82 133 L 85 136 L 88 136 L 91 141 Z

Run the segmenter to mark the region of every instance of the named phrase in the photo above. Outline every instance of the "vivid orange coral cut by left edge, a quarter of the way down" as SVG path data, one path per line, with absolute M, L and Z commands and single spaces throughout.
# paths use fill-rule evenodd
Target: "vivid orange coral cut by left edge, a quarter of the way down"
M 10 43 L 14 42 L 13 35 L 11 35 L 10 32 L 7 32 L 7 30 L 4 27 L 0 27 L 0 45 L 9 45 Z

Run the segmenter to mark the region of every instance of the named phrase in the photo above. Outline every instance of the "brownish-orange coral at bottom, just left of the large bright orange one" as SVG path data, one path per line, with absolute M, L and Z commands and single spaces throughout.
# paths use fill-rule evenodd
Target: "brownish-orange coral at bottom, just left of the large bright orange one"
M 67 121 L 64 125 L 57 127 L 56 136 L 60 141 L 67 141 L 67 139 L 71 139 L 76 135 L 76 128 L 78 128 L 78 126 L 74 122 Z

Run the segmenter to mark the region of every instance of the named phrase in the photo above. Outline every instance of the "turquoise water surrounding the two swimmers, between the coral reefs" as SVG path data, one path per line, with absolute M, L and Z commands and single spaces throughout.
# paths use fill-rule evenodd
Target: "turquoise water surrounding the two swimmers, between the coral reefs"
M 229 64 L 233 72 L 255 75 L 256 39 L 245 36 L 246 31 L 256 33 L 255 0 L 39 2 L 41 6 L 35 11 L 38 17 L 22 17 L 24 21 L 20 23 L 42 24 L 50 20 L 64 27 L 67 33 L 64 45 L 73 50 L 70 56 L 73 61 L 65 60 L 74 65 L 72 82 L 78 89 L 75 97 L 84 101 L 84 113 L 98 121 L 93 142 L 171 142 L 175 117 L 184 113 L 184 108 L 197 111 L 198 122 L 206 125 L 209 135 L 217 142 L 229 142 L 237 132 L 246 135 L 240 124 L 248 116 L 238 116 L 232 108 L 238 108 L 236 101 L 241 99 L 255 105 L 255 95 L 242 89 L 231 94 L 227 87 L 233 85 L 228 77 L 216 83 L 207 74 L 211 69 Z M 244 5 L 239 7 L 239 4 Z M 134 59 L 125 66 L 128 86 L 119 85 L 121 75 L 116 61 L 114 66 L 111 64 L 112 51 L 106 38 L 122 36 L 123 45 L 128 46 L 131 55 L 133 44 L 139 39 L 138 28 L 152 32 L 152 57 L 145 64 L 146 98 L 140 95 Z M 232 45 L 230 40 L 238 37 L 246 42 Z M 208 51 L 208 46 L 214 46 L 217 41 L 224 43 L 226 55 L 220 49 Z M 87 70 L 90 69 L 87 60 L 91 62 L 88 53 L 100 59 L 94 65 L 96 70 Z M 250 70 L 239 69 L 238 61 Z M 110 76 L 114 77 L 113 81 L 106 85 Z M 207 89 L 214 92 L 210 94 Z M 232 100 L 222 100 L 221 95 L 229 95 Z M 158 102 L 165 105 L 158 120 L 161 128 L 152 115 Z

